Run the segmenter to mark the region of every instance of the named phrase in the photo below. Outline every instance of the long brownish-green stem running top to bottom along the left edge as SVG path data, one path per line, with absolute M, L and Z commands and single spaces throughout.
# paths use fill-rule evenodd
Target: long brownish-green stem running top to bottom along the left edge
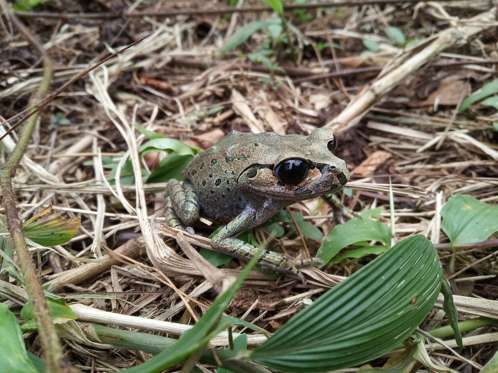
M 3 0 L 1 0 L 4 2 Z M 7 8 L 3 3 L 3 8 Z M 28 31 L 28 29 L 19 21 L 19 19 L 10 13 L 10 20 L 17 30 L 36 48 L 43 59 L 43 77 L 40 87 L 36 93 L 29 100 L 29 106 L 35 106 L 37 102 L 45 95 L 52 79 L 53 65 L 48 57 L 46 51 L 41 44 L 36 40 Z M 35 108 L 31 109 L 32 111 Z M 44 358 L 47 364 L 47 372 L 51 373 L 69 373 L 79 372 L 79 370 L 71 367 L 65 358 L 62 345 L 60 344 L 59 337 L 57 336 L 55 326 L 52 322 L 52 317 L 48 310 L 43 289 L 38 279 L 36 268 L 31 259 L 31 255 L 26 246 L 24 236 L 22 234 L 22 226 L 17 215 L 17 210 L 14 202 L 14 193 L 12 188 L 11 178 L 15 175 L 15 170 L 21 161 L 26 147 L 33 133 L 34 125 L 38 115 L 35 114 L 24 125 L 19 141 L 15 145 L 12 152 L 9 154 L 7 161 L 0 167 L 0 188 L 5 205 L 5 215 L 7 218 L 7 229 L 12 239 L 12 243 L 17 253 L 17 261 L 21 268 L 22 275 L 25 281 L 26 292 L 29 299 L 33 302 L 35 309 L 34 318 L 38 327 L 38 335 L 40 343 L 44 351 Z

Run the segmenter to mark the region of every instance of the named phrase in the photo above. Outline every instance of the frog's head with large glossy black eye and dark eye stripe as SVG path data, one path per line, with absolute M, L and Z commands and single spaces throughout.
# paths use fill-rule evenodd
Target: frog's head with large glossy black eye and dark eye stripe
M 349 181 L 344 160 L 333 151 L 337 138 L 329 128 L 318 128 L 308 136 L 272 134 L 267 154 L 260 163 L 246 167 L 237 183 L 246 194 L 280 200 L 306 200 L 335 193 Z

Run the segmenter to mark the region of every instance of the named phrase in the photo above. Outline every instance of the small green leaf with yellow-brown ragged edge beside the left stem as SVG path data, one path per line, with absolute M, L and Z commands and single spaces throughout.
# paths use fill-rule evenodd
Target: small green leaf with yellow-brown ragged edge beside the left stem
M 38 245 L 62 245 L 76 235 L 80 224 L 81 219 L 79 217 L 64 219 L 61 215 L 54 214 L 27 225 L 22 229 L 22 233 L 24 237 Z

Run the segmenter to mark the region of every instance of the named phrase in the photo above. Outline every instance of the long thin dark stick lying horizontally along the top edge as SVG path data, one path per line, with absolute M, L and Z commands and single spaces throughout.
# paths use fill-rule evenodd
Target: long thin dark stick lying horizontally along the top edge
M 453 1 L 453 0 L 439 0 L 439 1 Z M 419 0 L 349 0 L 337 2 L 324 2 L 324 3 L 311 3 L 311 4 L 288 4 L 283 6 L 284 11 L 295 9 L 316 9 L 316 8 L 332 8 L 338 6 L 363 6 L 363 5 L 381 5 L 393 3 L 417 3 Z M 30 11 L 17 11 L 15 14 L 21 17 L 43 17 L 43 18 L 130 18 L 142 16 L 160 16 L 172 17 L 175 15 L 211 15 L 211 14 L 226 14 L 226 13 L 249 13 L 249 12 L 262 12 L 273 11 L 270 6 L 245 6 L 240 8 L 223 7 L 218 9 L 180 9 L 180 10 L 154 10 L 154 11 L 141 11 L 141 12 L 119 12 L 119 13 L 54 13 L 48 11 L 30 12 Z

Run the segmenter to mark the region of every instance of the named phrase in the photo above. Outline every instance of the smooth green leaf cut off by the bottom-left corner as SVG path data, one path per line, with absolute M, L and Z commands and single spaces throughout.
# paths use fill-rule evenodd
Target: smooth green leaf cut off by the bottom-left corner
M 0 303 L 0 361 L 2 372 L 38 373 L 27 356 L 17 318 L 3 303 Z

